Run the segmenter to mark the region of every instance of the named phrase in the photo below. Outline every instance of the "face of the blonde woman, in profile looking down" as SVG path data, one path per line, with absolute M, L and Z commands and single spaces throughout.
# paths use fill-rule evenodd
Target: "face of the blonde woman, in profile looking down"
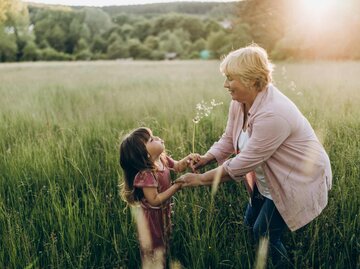
M 257 95 L 257 92 L 255 89 L 250 89 L 249 87 L 246 87 L 238 78 L 235 78 L 231 75 L 227 75 L 225 82 L 224 82 L 224 88 L 228 89 L 231 98 L 234 101 L 238 101 L 240 103 L 248 103 L 252 104 L 255 100 L 255 97 Z

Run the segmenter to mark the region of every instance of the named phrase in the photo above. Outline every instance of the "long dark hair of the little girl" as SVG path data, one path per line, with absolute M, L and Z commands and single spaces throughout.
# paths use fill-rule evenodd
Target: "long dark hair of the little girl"
M 155 170 L 155 165 L 146 150 L 146 143 L 151 137 L 148 128 L 140 127 L 127 135 L 120 145 L 120 166 L 125 180 L 121 186 L 121 197 L 129 204 L 144 197 L 141 189 L 134 188 L 136 174 L 144 170 Z

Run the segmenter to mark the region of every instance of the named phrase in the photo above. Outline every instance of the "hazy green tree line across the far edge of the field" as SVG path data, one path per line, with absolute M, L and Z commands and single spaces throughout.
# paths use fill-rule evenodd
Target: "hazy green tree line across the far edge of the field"
M 2 0 L 0 61 L 219 58 L 251 42 L 274 59 L 360 58 L 358 1 L 332 10 L 333 20 L 318 18 L 317 27 L 298 12 L 299 2 L 89 8 Z

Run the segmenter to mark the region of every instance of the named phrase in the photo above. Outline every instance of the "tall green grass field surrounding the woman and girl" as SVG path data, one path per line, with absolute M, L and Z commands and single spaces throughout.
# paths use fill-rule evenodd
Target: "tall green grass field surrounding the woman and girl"
M 118 195 L 121 137 L 150 127 L 175 159 L 192 151 L 195 106 L 223 102 L 196 128 L 204 153 L 230 97 L 217 61 L 0 65 L 0 267 L 139 268 Z M 359 268 L 360 63 L 277 63 L 275 84 L 329 153 L 333 189 L 311 224 L 285 233 L 294 268 Z M 171 260 L 184 268 L 252 268 L 245 188 L 230 182 L 174 198 Z

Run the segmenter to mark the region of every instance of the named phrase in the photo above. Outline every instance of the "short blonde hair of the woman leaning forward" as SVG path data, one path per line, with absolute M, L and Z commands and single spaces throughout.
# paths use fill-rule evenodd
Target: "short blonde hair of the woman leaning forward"
M 272 81 L 273 68 L 268 54 L 257 44 L 230 52 L 220 64 L 221 73 L 239 78 L 246 87 L 253 82 L 258 91 Z

